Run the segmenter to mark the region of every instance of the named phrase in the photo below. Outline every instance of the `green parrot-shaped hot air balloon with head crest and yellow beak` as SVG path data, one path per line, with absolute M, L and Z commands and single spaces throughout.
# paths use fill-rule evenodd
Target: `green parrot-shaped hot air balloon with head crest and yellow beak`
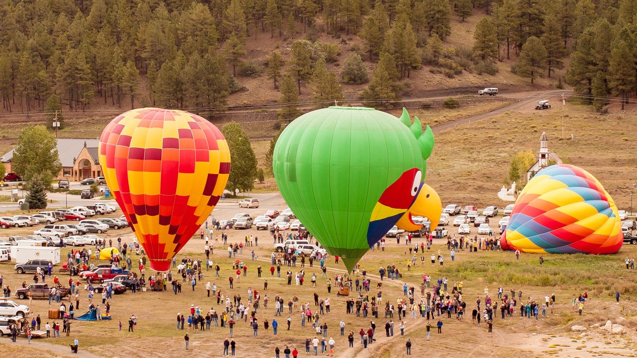
M 423 133 L 418 118 L 412 125 L 404 109 L 399 119 L 372 108 L 334 106 L 306 113 L 283 130 L 273 171 L 294 214 L 351 270 L 399 218 L 438 222 L 438 195 L 431 196 L 437 203 L 427 203 L 431 189 L 421 190 L 433 146 L 431 129 Z

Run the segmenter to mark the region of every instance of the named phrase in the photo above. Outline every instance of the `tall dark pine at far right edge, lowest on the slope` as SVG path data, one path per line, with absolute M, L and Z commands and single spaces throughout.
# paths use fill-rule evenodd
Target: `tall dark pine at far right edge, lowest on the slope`
M 622 99 L 622 110 L 637 84 L 634 43 L 633 34 L 624 27 L 613 41 L 613 50 L 610 52 L 608 85 L 611 92 Z

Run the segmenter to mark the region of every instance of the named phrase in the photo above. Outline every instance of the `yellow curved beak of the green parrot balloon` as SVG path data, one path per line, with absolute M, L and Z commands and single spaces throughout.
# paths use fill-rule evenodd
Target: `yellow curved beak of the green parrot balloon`
M 434 231 L 440 221 L 440 214 L 442 213 L 442 202 L 440 196 L 436 190 L 422 183 L 420 191 L 412 206 L 399 218 L 396 222 L 396 226 L 404 231 L 417 231 L 422 227 L 422 224 L 414 224 L 413 217 L 426 217 L 431 221 L 431 227 L 429 231 Z

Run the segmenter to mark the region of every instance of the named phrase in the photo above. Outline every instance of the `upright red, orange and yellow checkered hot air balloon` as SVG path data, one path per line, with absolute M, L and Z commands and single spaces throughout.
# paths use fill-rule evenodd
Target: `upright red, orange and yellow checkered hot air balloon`
M 171 259 L 208 218 L 230 173 L 223 134 L 187 111 L 140 108 L 99 138 L 106 183 L 144 248 L 150 268 Z

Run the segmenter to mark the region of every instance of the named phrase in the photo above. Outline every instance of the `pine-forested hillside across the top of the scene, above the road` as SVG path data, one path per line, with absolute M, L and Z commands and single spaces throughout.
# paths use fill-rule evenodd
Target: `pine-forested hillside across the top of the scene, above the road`
M 353 86 L 383 106 L 414 71 L 533 83 L 566 65 L 576 90 L 624 103 L 637 87 L 636 15 L 637 0 L 0 0 L 0 96 L 11 112 L 197 111 L 259 78 L 282 103 L 327 106 Z M 473 16 L 471 45 L 448 43 L 452 21 Z

